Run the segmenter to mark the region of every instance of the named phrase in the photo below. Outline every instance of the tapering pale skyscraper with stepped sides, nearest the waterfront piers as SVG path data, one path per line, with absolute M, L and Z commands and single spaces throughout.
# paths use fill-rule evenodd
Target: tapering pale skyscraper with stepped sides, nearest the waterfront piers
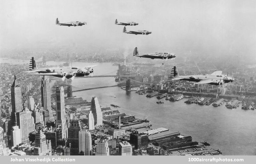
M 97 97 L 93 97 L 91 99 L 91 111 L 93 113 L 94 122 L 95 122 L 96 126 L 101 126 L 102 125 L 102 113 L 101 113 L 100 104 L 98 102 Z

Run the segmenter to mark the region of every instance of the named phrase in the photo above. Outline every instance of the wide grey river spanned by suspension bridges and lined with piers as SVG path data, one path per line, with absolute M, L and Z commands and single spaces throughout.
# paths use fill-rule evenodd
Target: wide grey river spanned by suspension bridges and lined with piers
M 61 62 L 47 62 L 47 65 Z M 115 75 L 117 66 L 111 63 L 73 62 L 74 66 L 85 67 L 95 65 L 94 75 Z M 90 75 L 91 76 L 91 75 Z M 75 78 L 72 82 L 73 91 L 83 88 L 115 85 L 114 77 L 108 78 Z M 171 132 L 179 131 L 182 135 L 192 136 L 193 141 L 207 140 L 212 148 L 220 149 L 224 155 L 256 155 L 256 111 L 227 109 L 225 104 L 212 105 L 186 104 L 182 99 L 171 102 L 163 99 L 157 104 L 156 97 L 147 98 L 134 91 L 126 92 L 119 87 L 101 88 L 73 93 L 90 101 L 97 96 L 102 107 L 118 109 L 127 115 L 134 114 L 137 118 L 147 118 L 152 129 L 168 128 Z M 116 96 L 116 98 L 111 97 Z M 121 108 L 113 108 L 116 104 Z

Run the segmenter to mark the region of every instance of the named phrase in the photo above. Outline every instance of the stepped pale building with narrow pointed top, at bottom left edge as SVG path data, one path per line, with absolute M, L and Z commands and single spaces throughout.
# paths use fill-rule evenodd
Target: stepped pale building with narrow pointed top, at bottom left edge
M 52 151 L 51 141 L 46 140 L 44 133 L 40 129 L 35 134 L 35 147 L 34 147 L 33 155 L 46 155 L 51 153 L 51 151 Z

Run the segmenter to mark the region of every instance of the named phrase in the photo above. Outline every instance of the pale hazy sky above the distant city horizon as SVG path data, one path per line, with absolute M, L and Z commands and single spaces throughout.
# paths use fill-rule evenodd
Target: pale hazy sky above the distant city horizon
M 256 53 L 256 1 L 241 0 L 0 0 L 0 51 L 65 47 L 90 52 L 200 55 Z M 82 27 L 60 22 L 87 22 Z M 122 33 L 118 22 L 135 21 Z

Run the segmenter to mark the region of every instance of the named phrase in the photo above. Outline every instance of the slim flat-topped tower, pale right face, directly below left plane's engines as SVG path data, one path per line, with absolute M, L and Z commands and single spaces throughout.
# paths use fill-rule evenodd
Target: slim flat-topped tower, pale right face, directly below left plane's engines
M 62 138 L 66 138 L 66 116 L 64 104 L 64 88 L 57 86 L 56 88 L 56 127 L 62 129 Z

